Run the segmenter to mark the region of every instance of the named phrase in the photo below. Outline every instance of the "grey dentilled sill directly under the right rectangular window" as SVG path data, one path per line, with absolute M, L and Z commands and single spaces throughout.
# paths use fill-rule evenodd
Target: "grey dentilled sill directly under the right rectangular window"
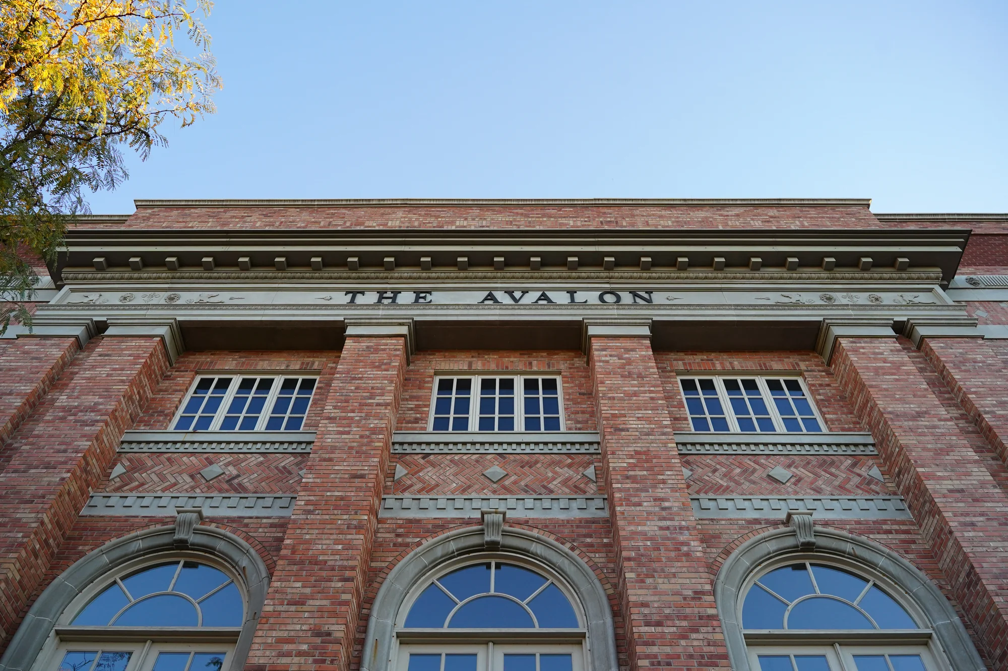
M 868 432 L 700 433 L 676 431 L 679 454 L 877 454 Z

